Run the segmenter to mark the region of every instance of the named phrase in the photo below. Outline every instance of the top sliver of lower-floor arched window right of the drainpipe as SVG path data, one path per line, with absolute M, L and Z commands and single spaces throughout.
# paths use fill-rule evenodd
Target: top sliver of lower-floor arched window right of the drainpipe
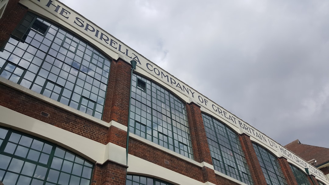
M 139 175 L 127 175 L 126 185 L 172 185 L 159 179 Z

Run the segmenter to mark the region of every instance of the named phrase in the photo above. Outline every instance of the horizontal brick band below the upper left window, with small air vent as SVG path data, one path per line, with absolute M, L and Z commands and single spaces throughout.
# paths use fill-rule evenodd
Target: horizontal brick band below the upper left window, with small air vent
M 107 144 L 107 127 L 93 123 L 3 84 L 0 84 L 0 105 L 99 143 Z M 42 116 L 41 111 L 49 113 L 49 116 Z

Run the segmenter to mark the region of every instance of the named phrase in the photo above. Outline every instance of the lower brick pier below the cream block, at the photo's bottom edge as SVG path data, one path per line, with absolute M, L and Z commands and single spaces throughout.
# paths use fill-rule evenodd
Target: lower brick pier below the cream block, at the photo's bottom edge
M 96 164 L 91 185 L 125 185 L 127 167 L 106 161 L 103 165 Z

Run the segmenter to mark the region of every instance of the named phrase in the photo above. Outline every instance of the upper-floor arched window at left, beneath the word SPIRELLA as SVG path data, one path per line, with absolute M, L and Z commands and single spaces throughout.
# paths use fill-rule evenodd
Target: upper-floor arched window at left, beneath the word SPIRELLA
M 27 13 L 0 51 L 0 76 L 101 119 L 110 60 L 87 42 Z

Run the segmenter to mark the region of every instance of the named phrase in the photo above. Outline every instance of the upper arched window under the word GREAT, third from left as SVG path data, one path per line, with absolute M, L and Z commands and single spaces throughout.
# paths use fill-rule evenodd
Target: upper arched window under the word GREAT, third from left
M 238 135 L 213 117 L 202 117 L 215 170 L 253 184 Z

